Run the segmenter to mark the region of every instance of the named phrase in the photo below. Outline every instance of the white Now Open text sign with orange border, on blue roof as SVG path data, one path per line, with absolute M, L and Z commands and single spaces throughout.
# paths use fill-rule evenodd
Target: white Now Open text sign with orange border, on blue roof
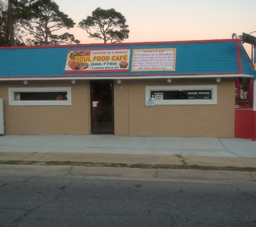
M 132 72 L 175 71 L 176 48 L 134 49 Z

